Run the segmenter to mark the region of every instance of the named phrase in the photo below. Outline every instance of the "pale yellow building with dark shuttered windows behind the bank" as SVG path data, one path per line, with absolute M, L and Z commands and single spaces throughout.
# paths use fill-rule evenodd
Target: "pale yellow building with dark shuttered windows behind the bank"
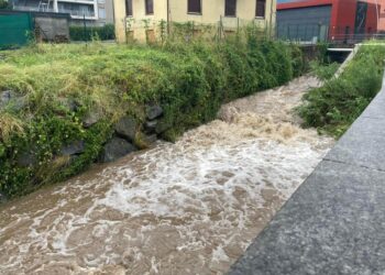
M 191 22 L 194 32 L 212 26 L 218 33 L 254 24 L 273 33 L 275 12 L 276 0 L 114 0 L 116 33 L 121 43 L 155 40 L 165 31 L 161 22 Z

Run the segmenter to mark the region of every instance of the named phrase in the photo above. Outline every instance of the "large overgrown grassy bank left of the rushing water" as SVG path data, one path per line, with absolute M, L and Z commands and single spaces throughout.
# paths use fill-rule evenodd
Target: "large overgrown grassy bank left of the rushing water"
M 300 51 L 278 42 L 228 41 L 163 46 L 35 45 L 4 52 L 0 91 L 0 193 L 8 197 L 63 180 L 98 160 L 122 116 L 139 125 L 147 105 L 164 110 L 163 139 L 212 120 L 221 103 L 279 86 L 301 74 Z M 85 127 L 85 117 L 98 122 Z M 63 147 L 82 141 L 81 154 Z M 25 165 L 28 160 L 28 165 Z

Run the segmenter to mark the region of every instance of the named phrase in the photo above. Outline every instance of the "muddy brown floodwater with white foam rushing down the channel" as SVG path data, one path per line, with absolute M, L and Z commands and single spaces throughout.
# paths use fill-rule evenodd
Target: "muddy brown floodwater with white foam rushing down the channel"
M 312 77 L 0 207 L 0 274 L 222 274 L 333 141 L 293 108 Z

